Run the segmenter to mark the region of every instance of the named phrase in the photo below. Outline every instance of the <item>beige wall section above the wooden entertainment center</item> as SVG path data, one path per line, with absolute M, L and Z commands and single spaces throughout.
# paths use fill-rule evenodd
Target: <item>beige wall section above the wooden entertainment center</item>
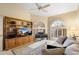
M 15 3 L 0 3 L 0 15 L 23 20 L 31 20 L 31 13 Z

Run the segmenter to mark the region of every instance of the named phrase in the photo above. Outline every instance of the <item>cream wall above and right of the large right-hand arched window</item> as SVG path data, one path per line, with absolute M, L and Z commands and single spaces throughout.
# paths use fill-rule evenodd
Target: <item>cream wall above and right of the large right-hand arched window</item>
M 79 13 L 78 11 L 73 11 L 57 16 L 51 16 L 49 17 L 49 20 L 54 19 L 61 19 L 64 21 L 65 26 L 67 27 L 67 35 L 72 36 L 74 33 L 75 35 L 79 36 Z

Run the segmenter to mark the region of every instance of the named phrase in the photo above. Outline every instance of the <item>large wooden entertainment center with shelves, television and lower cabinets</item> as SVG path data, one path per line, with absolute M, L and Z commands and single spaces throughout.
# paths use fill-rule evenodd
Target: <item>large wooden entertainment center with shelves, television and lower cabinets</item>
M 3 39 L 3 50 L 33 42 L 32 22 L 5 16 Z

